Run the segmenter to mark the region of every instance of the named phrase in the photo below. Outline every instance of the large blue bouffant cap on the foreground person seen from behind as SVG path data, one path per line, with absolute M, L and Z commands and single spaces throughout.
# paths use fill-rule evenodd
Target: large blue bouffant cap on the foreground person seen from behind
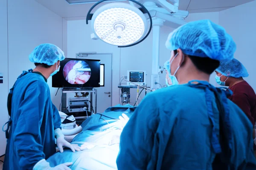
M 198 20 L 171 32 L 166 48 L 181 49 L 186 55 L 229 61 L 233 59 L 236 43 L 223 27 L 210 20 Z

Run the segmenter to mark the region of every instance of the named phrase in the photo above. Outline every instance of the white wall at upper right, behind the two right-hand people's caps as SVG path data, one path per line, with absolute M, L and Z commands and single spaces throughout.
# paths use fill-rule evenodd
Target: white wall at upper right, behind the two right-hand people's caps
M 237 45 L 235 58 L 246 67 L 245 80 L 256 91 L 256 1 L 220 12 L 219 24 L 233 37 Z

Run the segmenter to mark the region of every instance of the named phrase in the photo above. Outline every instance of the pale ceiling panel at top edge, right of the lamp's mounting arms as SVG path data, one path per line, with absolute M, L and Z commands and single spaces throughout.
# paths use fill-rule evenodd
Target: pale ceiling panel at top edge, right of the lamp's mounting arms
M 253 0 L 191 0 L 188 10 L 233 7 Z

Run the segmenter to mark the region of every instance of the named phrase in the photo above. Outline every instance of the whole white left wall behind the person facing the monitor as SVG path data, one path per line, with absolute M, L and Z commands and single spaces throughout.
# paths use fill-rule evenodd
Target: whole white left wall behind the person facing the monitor
M 0 84 L 0 127 L 3 127 L 8 121 L 6 104 L 9 89 L 23 70 L 35 67 L 28 58 L 32 50 L 41 43 L 53 43 L 67 52 L 67 21 L 35 0 L 26 0 L 26 3 L 1 0 L 0 21 L 0 72 L 4 76 L 4 83 Z M 51 82 L 49 78 L 50 87 Z M 51 88 L 51 92 L 53 103 L 58 107 L 60 100 L 54 98 L 56 89 Z M 0 130 L 0 156 L 5 153 L 5 147 L 5 134 Z

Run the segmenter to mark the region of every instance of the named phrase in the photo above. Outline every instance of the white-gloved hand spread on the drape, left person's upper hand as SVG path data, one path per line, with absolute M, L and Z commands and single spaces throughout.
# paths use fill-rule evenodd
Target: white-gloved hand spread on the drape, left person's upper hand
M 56 144 L 59 148 L 60 152 L 63 153 L 63 147 L 69 147 L 73 152 L 79 151 L 80 147 L 78 144 L 70 144 L 68 141 L 64 139 L 64 135 L 61 132 L 61 129 L 54 130 L 55 138 L 56 138 Z

